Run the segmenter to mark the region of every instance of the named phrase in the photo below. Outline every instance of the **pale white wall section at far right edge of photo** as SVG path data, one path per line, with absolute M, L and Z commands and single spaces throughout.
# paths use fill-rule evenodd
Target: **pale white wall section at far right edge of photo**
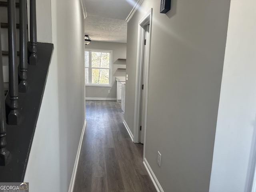
M 256 2 L 231 1 L 210 192 L 249 192 L 256 140 Z

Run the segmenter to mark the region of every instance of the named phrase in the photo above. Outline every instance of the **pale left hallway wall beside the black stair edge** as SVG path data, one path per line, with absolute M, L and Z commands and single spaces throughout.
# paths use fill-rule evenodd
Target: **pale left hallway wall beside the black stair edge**
M 67 192 L 85 120 L 83 17 L 79 0 L 50 7 L 54 53 L 24 181 L 31 191 L 47 183 L 48 192 Z

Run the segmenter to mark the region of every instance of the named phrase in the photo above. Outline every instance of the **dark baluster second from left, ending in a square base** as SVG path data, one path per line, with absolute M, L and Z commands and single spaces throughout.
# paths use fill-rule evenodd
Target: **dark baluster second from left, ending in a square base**
M 8 0 L 8 50 L 9 50 L 9 95 L 10 113 L 8 124 L 17 125 L 20 119 L 18 112 L 18 66 L 16 50 L 16 14 L 15 0 Z

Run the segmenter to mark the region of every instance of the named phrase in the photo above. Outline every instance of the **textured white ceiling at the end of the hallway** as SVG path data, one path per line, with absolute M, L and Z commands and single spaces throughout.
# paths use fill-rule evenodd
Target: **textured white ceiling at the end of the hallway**
M 134 0 L 84 0 L 85 34 L 92 41 L 126 42 L 127 22 Z

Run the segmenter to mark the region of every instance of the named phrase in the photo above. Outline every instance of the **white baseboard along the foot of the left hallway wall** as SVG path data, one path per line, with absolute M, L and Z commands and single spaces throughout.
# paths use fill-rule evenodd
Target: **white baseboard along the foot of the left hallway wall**
M 77 150 L 77 153 L 76 153 L 76 160 L 75 160 L 75 164 L 74 164 L 74 168 L 73 168 L 72 177 L 71 177 L 71 181 L 70 181 L 70 184 L 69 184 L 68 192 L 73 192 L 73 190 L 74 190 L 74 184 L 75 184 L 75 180 L 76 180 L 76 171 L 77 171 L 78 161 L 79 161 L 80 152 L 81 152 L 81 148 L 82 148 L 82 142 L 83 142 L 83 138 L 84 138 L 85 127 L 86 127 L 86 120 L 84 120 L 84 126 L 83 126 L 83 129 L 82 129 L 82 134 L 80 136 L 80 141 L 79 141 L 79 144 L 78 144 L 78 150 Z

